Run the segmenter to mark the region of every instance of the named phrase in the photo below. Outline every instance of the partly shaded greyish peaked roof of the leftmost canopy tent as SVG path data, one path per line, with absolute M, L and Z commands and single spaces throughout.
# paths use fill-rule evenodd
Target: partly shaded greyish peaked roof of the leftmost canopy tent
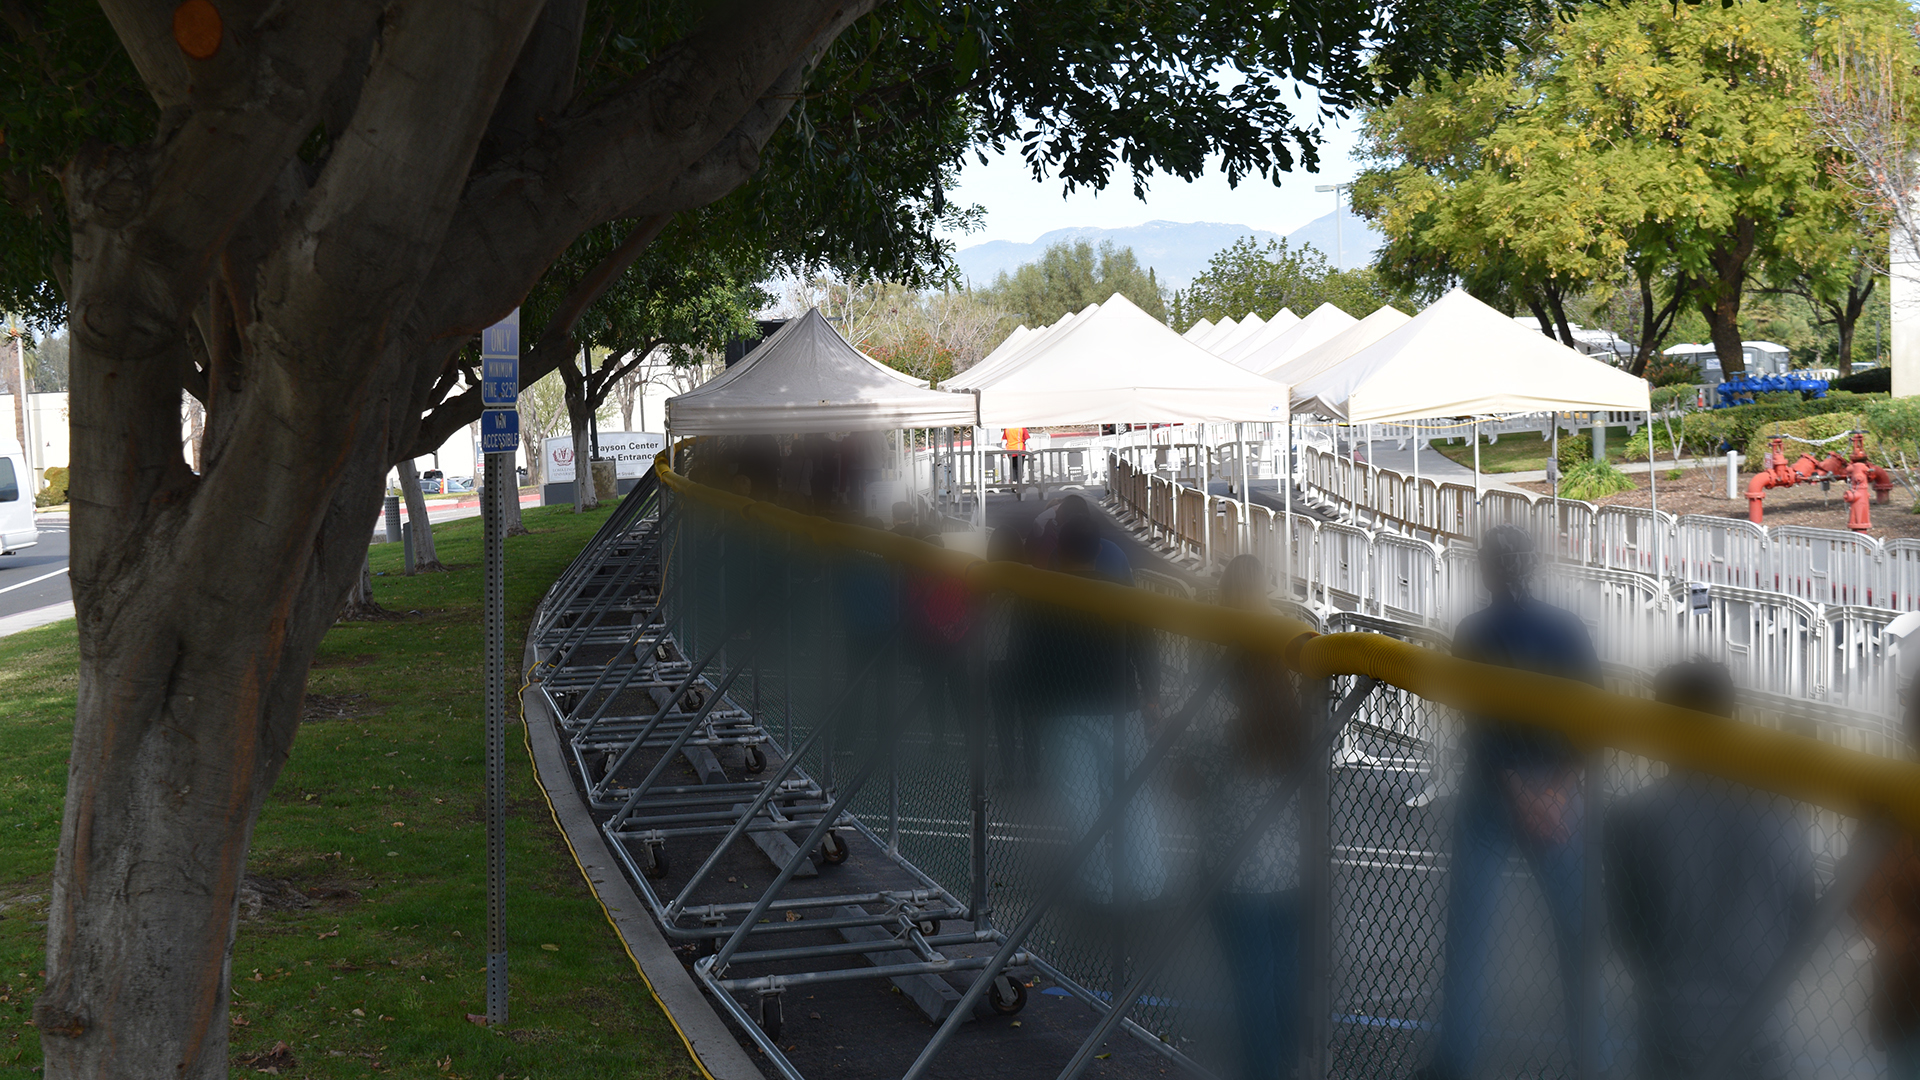
M 687 434 L 816 434 L 964 427 L 972 394 L 929 390 L 852 348 L 810 309 L 789 319 L 747 359 L 666 402 L 666 427 Z

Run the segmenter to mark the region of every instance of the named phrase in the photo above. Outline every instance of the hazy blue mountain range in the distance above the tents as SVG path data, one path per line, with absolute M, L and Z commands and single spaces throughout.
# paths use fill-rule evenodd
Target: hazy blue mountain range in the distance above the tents
M 1281 238 L 1279 233 L 1269 233 L 1265 229 L 1223 225 L 1217 221 L 1148 221 L 1127 229 L 1096 229 L 1083 225 L 1054 229 L 1052 233 L 1041 234 L 1041 238 L 1031 244 L 1016 244 L 1012 240 L 973 244 L 970 248 L 960 248 L 954 261 L 960 263 L 960 275 L 973 284 L 993 284 L 993 279 L 998 277 L 1000 271 L 1012 271 L 1014 267 L 1031 263 L 1041 258 L 1041 252 L 1062 240 L 1087 240 L 1092 246 L 1112 240 L 1116 248 L 1133 248 L 1140 265 L 1152 267 L 1154 275 L 1167 288 L 1187 288 L 1187 284 L 1206 269 L 1208 259 L 1212 259 L 1215 252 L 1231 246 L 1240 236 L 1252 236 L 1261 244 Z M 1294 248 L 1311 244 L 1327 256 L 1329 263 L 1334 263 L 1338 254 L 1344 256 L 1340 259 L 1344 265 L 1357 267 L 1373 258 L 1373 252 L 1380 246 L 1382 236 L 1352 213 L 1340 215 L 1336 236 L 1334 215 L 1327 213 L 1288 233 L 1286 242 Z

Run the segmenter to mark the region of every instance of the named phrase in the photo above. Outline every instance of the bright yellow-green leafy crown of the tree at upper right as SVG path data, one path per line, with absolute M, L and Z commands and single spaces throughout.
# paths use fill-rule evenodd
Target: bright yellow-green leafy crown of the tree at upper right
M 1859 208 L 1812 136 L 1809 63 L 1878 0 L 1724 6 L 1630 0 L 1542 23 L 1486 73 L 1436 77 L 1367 117 L 1356 209 L 1380 269 L 1461 282 L 1571 340 L 1567 302 L 1626 288 L 1642 371 L 1680 309 L 1741 371 L 1740 306 L 1768 267 L 1826 267 L 1845 292 Z M 1788 275 L 1793 277 L 1793 275 Z

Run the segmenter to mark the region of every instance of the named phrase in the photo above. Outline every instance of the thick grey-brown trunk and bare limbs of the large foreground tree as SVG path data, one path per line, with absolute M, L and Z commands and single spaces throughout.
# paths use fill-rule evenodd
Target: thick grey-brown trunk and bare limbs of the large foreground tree
M 227 1074 L 253 821 L 444 361 L 582 231 L 751 177 L 806 65 L 870 6 L 749 0 L 568 111 L 578 35 L 522 54 L 563 4 L 177 23 L 104 0 L 161 119 L 61 177 L 79 694 L 35 1003 L 48 1080 Z M 499 160 L 476 169 L 484 135 Z

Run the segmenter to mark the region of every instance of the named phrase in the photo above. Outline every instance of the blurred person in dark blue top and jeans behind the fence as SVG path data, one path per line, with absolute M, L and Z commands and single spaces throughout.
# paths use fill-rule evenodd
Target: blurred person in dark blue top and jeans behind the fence
M 1536 600 L 1532 575 L 1532 536 L 1513 525 L 1490 528 L 1480 540 L 1480 578 L 1492 601 L 1461 619 L 1453 655 L 1599 686 L 1599 655 L 1580 617 Z M 1524 855 L 1546 897 L 1569 1040 L 1580 1030 L 1580 753 L 1557 734 L 1488 717 L 1467 717 L 1465 751 L 1467 773 L 1453 807 L 1440 1034 L 1421 1080 L 1473 1074 L 1486 1030 L 1494 915 L 1513 849 Z

